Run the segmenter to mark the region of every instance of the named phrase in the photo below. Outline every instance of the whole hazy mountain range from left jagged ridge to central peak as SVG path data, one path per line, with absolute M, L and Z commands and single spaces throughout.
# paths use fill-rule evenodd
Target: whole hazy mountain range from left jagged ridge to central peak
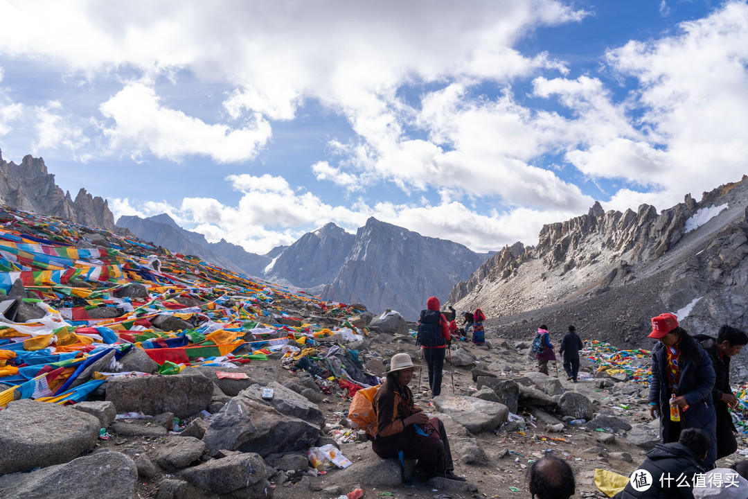
M 397 310 L 408 320 L 417 319 L 429 296 L 447 301 L 454 285 L 468 279 L 489 256 L 375 218 L 355 235 L 329 223 L 264 255 L 224 239 L 208 242 L 166 214 L 123 216 L 115 225 L 106 200 L 93 198 L 85 189 L 72 200 L 70 193 L 55 184 L 44 160 L 31 156 L 15 165 L 4 162 L 0 153 L 0 202 L 79 224 L 129 230 L 169 251 L 197 255 L 226 269 L 308 290 L 322 298 L 362 303 L 375 313 Z

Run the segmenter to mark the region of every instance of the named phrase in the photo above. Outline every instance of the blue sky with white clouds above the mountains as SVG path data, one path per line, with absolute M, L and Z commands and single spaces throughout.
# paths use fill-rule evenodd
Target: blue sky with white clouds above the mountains
M 746 1 L 0 0 L 0 150 L 265 254 L 497 251 L 748 173 Z

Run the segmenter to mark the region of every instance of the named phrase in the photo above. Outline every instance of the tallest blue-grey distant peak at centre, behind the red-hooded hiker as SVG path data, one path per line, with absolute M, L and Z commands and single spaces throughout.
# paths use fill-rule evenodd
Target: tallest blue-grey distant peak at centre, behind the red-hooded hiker
M 456 281 L 467 277 L 486 255 L 444 239 L 369 218 L 358 229 L 343 266 L 319 296 L 391 308 L 417 319 L 429 296 L 444 301 Z

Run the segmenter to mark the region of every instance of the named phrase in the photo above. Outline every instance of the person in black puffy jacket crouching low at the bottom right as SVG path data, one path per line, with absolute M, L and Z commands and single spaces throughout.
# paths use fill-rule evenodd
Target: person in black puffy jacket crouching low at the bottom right
M 693 499 L 694 475 L 707 471 L 703 459 L 711 441 L 702 429 L 687 428 L 670 444 L 657 444 L 613 499 Z

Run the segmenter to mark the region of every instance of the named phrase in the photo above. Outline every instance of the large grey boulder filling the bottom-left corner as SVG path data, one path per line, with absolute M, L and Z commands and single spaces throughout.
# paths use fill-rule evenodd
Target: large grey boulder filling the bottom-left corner
M 0 497 L 132 499 L 137 478 L 138 471 L 132 459 L 123 453 L 105 451 L 28 474 L 0 477 Z

